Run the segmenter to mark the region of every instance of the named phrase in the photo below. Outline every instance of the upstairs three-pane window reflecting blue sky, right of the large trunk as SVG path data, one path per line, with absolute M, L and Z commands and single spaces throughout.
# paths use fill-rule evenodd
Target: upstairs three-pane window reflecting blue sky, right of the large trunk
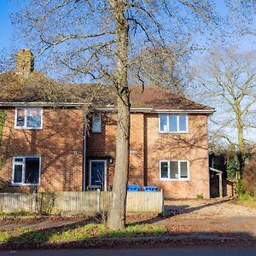
M 160 114 L 159 131 L 162 133 L 188 132 L 188 116 L 186 114 Z

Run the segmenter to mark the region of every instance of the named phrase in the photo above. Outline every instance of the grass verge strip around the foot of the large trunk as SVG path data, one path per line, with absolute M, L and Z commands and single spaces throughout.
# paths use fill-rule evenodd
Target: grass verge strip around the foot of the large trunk
M 108 230 L 106 224 L 69 225 L 61 228 L 0 230 L 0 243 L 61 242 L 103 237 L 160 236 L 165 226 L 130 224 L 125 230 Z

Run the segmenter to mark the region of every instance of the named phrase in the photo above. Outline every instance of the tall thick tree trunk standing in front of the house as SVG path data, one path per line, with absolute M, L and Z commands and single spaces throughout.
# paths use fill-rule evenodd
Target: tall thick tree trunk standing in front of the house
M 113 9 L 117 38 L 117 63 L 115 88 L 117 92 L 118 127 L 116 134 L 116 161 L 113 177 L 113 199 L 108 215 L 108 228 L 125 228 L 126 186 L 129 174 L 130 154 L 130 90 L 127 84 L 128 21 L 125 19 L 125 3 L 109 0 Z

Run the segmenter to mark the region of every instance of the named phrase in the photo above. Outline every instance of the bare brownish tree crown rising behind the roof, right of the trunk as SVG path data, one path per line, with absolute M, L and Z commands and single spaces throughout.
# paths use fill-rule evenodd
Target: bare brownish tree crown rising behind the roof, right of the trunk
M 148 47 L 131 61 L 130 84 L 154 84 L 175 92 L 183 92 L 187 84 L 189 54 L 187 42 L 164 47 Z

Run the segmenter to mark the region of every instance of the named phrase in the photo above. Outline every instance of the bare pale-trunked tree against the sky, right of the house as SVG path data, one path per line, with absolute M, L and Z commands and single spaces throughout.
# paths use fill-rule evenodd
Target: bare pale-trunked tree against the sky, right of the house
M 253 52 L 224 49 L 212 52 L 196 68 L 196 93 L 217 109 L 212 117 L 212 139 L 236 143 L 241 152 L 246 148 L 245 132 L 256 128 L 255 60 Z

